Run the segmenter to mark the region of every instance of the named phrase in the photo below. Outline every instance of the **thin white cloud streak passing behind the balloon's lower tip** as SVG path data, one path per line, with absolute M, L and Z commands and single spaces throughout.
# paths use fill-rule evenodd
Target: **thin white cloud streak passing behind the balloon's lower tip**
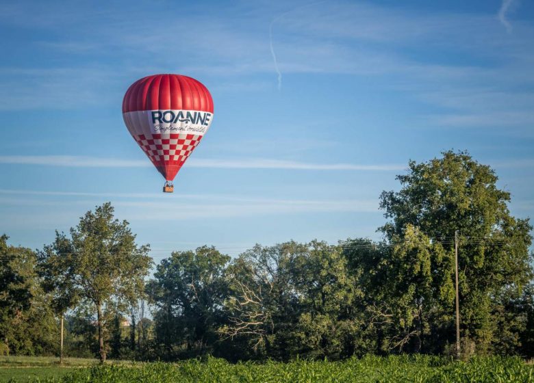
M 71 168 L 140 168 L 151 166 L 146 160 L 116 159 L 78 156 L 0 156 L 0 163 L 21 165 L 66 166 Z M 306 163 L 278 159 L 190 159 L 191 168 L 222 169 L 285 169 L 285 170 L 362 170 L 396 171 L 404 170 L 401 164 L 357 164 L 357 163 Z

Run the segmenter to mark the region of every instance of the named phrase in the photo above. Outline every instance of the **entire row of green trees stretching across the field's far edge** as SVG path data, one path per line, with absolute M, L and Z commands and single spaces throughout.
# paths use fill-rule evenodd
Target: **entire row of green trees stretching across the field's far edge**
M 534 356 L 529 220 L 467 153 L 409 163 L 383 192 L 381 241 L 173 252 L 150 275 L 111 204 L 36 252 L 0 239 L 0 354 L 231 361 L 455 352 Z M 457 232 L 457 235 L 456 235 Z

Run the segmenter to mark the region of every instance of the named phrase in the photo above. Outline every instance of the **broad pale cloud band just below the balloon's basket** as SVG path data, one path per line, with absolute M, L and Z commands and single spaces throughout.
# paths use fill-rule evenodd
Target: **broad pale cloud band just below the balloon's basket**
M 64 198 L 71 196 L 73 198 Z M 127 198 L 124 198 L 126 196 Z M 2 214 L 0 224 L 11 226 L 57 227 L 72 224 L 79 214 L 79 206 L 88 207 L 103 200 L 111 200 L 118 216 L 127 216 L 136 222 L 181 222 L 203 220 L 207 217 L 254 217 L 257 215 L 286 215 L 298 213 L 378 213 L 376 199 L 298 199 L 298 198 L 250 198 L 216 194 L 198 194 L 179 198 L 162 198 L 162 194 L 144 196 L 138 194 L 88 194 L 64 192 L 37 192 L 25 190 L 0 190 L 0 202 L 4 206 L 27 207 L 22 213 L 12 211 Z M 60 198 L 57 198 L 60 197 Z M 103 199 L 102 197 L 106 197 Z M 178 196 L 177 196 L 178 197 Z M 51 211 L 50 207 L 56 207 Z M 58 213 L 56 216 L 55 213 Z

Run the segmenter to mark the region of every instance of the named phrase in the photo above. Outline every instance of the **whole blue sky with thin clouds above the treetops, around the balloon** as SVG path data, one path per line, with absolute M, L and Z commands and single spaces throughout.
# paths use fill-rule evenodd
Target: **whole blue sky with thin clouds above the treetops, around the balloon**
M 110 200 L 156 260 L 204 243 L 378 239 L 409 159 L 468 150 L 534 214 L 531 1 L 3 1 L 0 232 L 40 248 Z M 214 122 L 175 179 L 121 115 L 179 73 Z

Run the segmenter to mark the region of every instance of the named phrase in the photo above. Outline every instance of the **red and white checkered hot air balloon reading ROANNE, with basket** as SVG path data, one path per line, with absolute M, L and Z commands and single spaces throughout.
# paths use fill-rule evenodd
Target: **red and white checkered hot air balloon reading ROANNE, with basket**
M 123 118 L 131 136 L 164 176 L 172 193 L 177 172 L 213 120 L 213 100 L 199 81 L 182 75 L 144 77 L 126 91 Z

